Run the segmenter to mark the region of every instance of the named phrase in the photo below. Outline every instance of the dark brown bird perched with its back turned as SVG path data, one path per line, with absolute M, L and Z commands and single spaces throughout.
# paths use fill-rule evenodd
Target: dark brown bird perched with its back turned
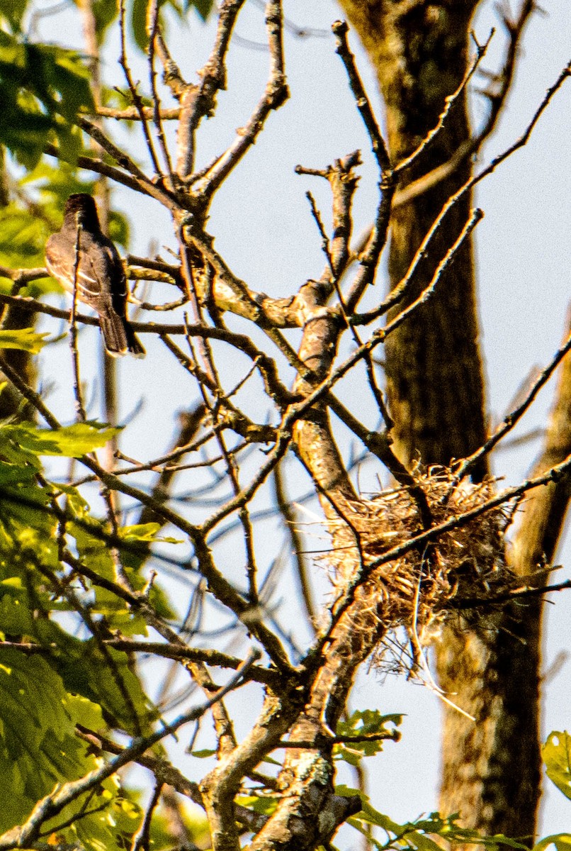
M 127 277 L 121 257 L 99 226 L 91 195 L 78 192 L 68 197 L 64 224 L 48 237 L 45 254 L 49 274 L 69 293 L 75 290 L 76 298 L 99 315 L 107 353 L 120 357 L 128 351 L 133 357 L 144 357 L 127 319 Z

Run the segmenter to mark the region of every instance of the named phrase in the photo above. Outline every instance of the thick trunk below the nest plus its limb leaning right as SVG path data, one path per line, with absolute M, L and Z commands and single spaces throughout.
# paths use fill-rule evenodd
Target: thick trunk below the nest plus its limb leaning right
M 533 476 L 551 469 L 571 453 L 571 360 L 563 362 L 546 445 Z M 557 540 L 571 496 L 571 483 L 531 491 L 508 553 L 517 574 L 533 574 L 555 556 Z M 544 580 L 540 577 L 538 584 Z M 439 650 L 443 688 L 478 718 L 472 730 L 460 716 L 444 722 L 441 805 L 471 814 L 488 832 L 503 831 L 530 841 L 540 800 L 540 663 L 541 602 L 508 608 L 497 631 L 479 637 L 472 631 L 449 631 Z M 462 685 L 464 683 L 464 685 Z M 455 767 L 452 745 L 461 757 Z M 459 780 L 461 784 L 459 785 Z

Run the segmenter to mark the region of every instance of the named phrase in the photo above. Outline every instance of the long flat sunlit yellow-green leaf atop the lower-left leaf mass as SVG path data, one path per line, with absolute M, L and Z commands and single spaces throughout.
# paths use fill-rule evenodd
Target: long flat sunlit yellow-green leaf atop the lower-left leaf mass
M 18 426 L 0 426 L 0 438 L 8 442 L 9 457 L 22 459 L 22 453 L 34 455 L 64 455 L 65 458 L 81 458 L 82 455 L 99 449 L 121 431 L 100 423 L 75 423 L 59 429 L 42 429 L 31 423 Z

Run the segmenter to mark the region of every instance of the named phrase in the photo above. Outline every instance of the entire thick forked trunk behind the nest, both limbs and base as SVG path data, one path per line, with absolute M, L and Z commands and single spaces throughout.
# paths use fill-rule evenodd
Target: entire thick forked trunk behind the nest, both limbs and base
M 393 163 L 410 154 L 438 122 L 444 98 L 466 73 L 474 0 L 341 0 L 376 68 L 387 110 Z M 406 172 L 407 182 L 445 162 L 469 139 L 461 97 L 435 145 Z M 447 199 L 469 177 L 466 163 L 450 178 L 398 208 L 389 258 L 393 288 Z M 401 184 L 402 188 L 403 184 Z M 469 197 L 449 214 L 423 260 L 414 298 L 466 221 Z M 485 408 L 472 251 L 463 249 L 435 297 L 387 340 L 387 392 L 395 420 L 395 449 L 408 465 L 449 464 L 483 443 Z M 567 367 L 567 371 L 571 368 Z M 571 448 L 571 375 L 563 378 L 546 453 L 546 470 Z M 473 471 L 475 478 L 485 465 Z M 529 574 L 553 554 L 568 500 L 568 483 L 534 492 L 514 553 Z M 510 608 L 489 630 L 448 628 L 437 651 L 443 688 L 476 718 L 444 711 L 440 808 L 460 811 L 466 825 L 530 839 L 540 796 L 540 603 Z

